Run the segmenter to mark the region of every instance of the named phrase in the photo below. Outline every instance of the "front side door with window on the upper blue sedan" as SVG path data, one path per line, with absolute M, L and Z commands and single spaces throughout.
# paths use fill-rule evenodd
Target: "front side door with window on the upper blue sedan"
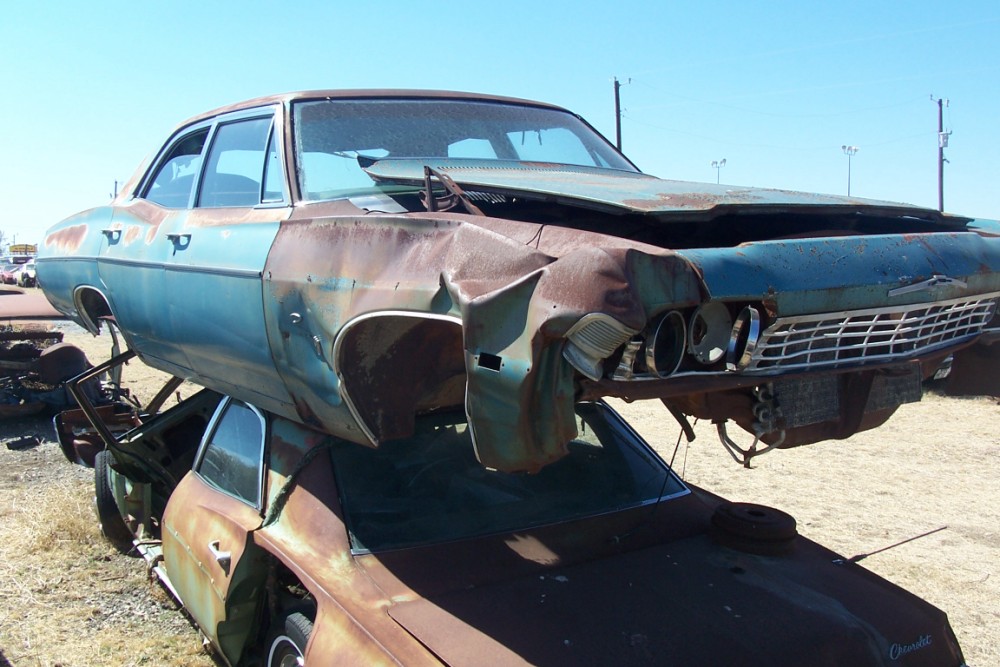
M 280 410 L 272 401 L 291 403 L 271 358 L 261 284 L 291 211 L 277 125 L 274 108 L 216 123 L 193 207 L 169 230 L 165 263 L 173 344 L 187 357 L 188 377 L 270 410 Z

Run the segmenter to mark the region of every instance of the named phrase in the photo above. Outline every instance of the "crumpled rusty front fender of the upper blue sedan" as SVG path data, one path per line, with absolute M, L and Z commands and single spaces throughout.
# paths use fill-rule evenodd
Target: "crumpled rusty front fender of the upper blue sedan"
M 428 407 L 426 392 L 435 390 L 421 387 L 421 374 L 442 364 L 446 381 L 464 367 L 464 397 L 435 397 L 444 404 L 464 398 L 485 466 L 531 471 L 558 459 L 576 435 L 574 371 L 562 358 L 569 328 L 599 312 L 640 330 L 667 304 L 707 296 L 673 252 L 628 241 L 609 247 L 603 236 L 602 247 L 587 244 L 586 235 L 449 214 L 283 225 L 264 271 L 265 313 L 298 418 L 363 441 L 350 409 L 365 406 L 357 416 L 376 442 L 403 437 L 414 409 Z M 445 319 L 428 335 L 442 340 L 441 329 L 460 321 L 464 349 L 437 351 L 428 368 L 426 355 L 398 354 L 403 339 L 374 340 L 377 328 L 363 324 L 373 313 L 386 326 L 433 313 Z M 480 364 L 483 354 L 498 357 L 499 368 Z

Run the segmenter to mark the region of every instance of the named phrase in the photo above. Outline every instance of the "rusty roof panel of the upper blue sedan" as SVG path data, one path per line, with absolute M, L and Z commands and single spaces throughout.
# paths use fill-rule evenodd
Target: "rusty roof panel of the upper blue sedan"
M 301 102 L 306 100 L 327 100 L 327 99 L 446 99 L 446 100 L 464 100 L 470 102 L 498 102 L 506 104 L 520 104 L 529 105 L 534 107 L 541 107 L 545 109 L 553 109 L 556 111 L 563 111 L 566 113 L 572 113 L 567 109 L 554 105 L 548 104 L 546 102 L 537 102 L 535 100 L 527 100 L 518 97 L 504 97 L 501 95 L 486 95 L 482 93 L 466 93 L 460 91 L 449 91 L 449 90 L 419 90 L 419 89 L 403 89 L 403 88 L 354 88 L 354 89 L 330 89 L 330 90 L 302 90 L 291 93 L 280 93 L 277 95 L 265 95 L 263 97 L 255 97 L 253 99 L 244 100 L 242 102 L 236 102 L 234 104 L 228 104 L 226 106 L 219 107 L 217 109 L 212 109 L 211 111 L 206 111 L 200 113 L 197 116 L 193 116 L 183 123 L 181 126 L 190 125 L 206 118 L 212 118 L 213 116 L 219 116 L 225 113 L 231 113 L 234 111 L 241 111 L 243 109 L 254 109 L 256 107 L 268 106 L 270 104 L 285 104 L 291 102 Z M 576 114 L 573 114 L 576 115 Z

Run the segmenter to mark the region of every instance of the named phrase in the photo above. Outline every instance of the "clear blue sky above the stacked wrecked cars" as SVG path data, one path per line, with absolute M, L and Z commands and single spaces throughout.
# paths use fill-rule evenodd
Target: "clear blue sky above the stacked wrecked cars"
M 1000 218 L 1000 3 L 21 2 L 0 22 L 7 242 L 108 200 L 182 120 L 258 95 L 437 88 L 566 106 L 679 180 Z M 717 174 L 714 160 L 725 158 Z

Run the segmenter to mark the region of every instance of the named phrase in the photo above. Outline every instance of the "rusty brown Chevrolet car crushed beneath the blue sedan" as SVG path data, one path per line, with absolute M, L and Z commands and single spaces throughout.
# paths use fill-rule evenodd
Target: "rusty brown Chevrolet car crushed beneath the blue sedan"
M 98 455 L 102 528 L 231 665 L 964 664 L 940 610 L 576 412 L 506 473 L 460 410 L 373 449 L 206 390 Z

